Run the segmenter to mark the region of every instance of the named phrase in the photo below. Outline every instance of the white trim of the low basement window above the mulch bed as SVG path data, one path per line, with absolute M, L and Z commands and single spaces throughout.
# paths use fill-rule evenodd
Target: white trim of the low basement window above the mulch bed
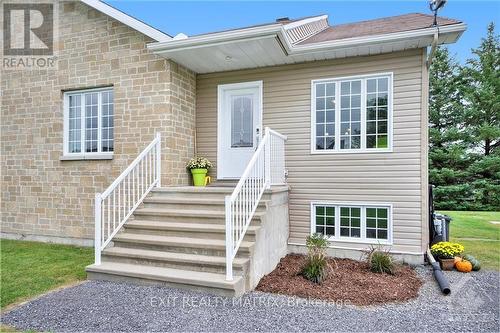
M 316 233 L 316 210 L 315 206 L 334 206 L 335 207 L 335 236 L 328 237 L 333 242 L 345 243 L 360 243 L 360 244 L 380 244 L 392 245 L 393 244 L 393 223 L 392 223 L 392 204 L 382 202 L 342 202 L 342 201 L 312 201 L 310 205 L 310 219 L 311 219 L 311 235 Z M 340 206 L 342 207 L 356 207 L 361 208 L 361 237 L 342 237 L 340 236 Z M 387 239 L 372 239 L 366 238 L 366 208 L 388 208 L 387 214 Z

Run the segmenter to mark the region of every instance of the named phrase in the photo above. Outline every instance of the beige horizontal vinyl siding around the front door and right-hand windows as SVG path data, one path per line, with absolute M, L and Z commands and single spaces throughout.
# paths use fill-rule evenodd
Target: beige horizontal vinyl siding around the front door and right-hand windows
M 288 136 L 289 243 L 305 243 L 311 202 L 379 202 L 393 205 L 392 249 L 422 253 L 423 54 L 418 49 L 198 75 L 197 153 L 217 160 L 217 85 L 262 80 L 264 126 Z M 394 74 L 393 152 L 311 154 L 311 80 L 385 72 Z M 216 167 L 211 175 L 216 177 Z M 333 245 L 366 248 L 351 242 Z

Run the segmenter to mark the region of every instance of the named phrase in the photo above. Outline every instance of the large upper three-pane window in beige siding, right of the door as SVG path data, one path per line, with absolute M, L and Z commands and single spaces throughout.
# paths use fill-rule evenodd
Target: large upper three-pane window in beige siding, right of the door
M 312 81 L 311 152 L 392 151 L 392 73 Z

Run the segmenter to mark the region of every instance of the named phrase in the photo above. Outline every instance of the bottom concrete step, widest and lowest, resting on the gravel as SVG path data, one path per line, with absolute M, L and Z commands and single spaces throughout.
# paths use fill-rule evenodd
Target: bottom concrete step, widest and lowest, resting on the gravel
M 238 296 L 244 292 L 244 281 L 241 276 L 235 276 L 232 281 L 227 281 L 224 274 L 111 262 L 87 266 L 86 271 L 92 280 L 161 284 L 224 296 Z

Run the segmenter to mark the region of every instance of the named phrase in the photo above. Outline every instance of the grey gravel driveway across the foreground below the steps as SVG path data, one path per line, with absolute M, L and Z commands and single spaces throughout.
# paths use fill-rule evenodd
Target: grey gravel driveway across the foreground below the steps
M 118 331 L 500 331 L 498 272 L 446 273 L 441 295 L 426 283 L 405 304 L 355 307 L 259 292 L 241 299 L 165 287 L 89 281 L 43 296 L 2 317 L 20 330 Z

